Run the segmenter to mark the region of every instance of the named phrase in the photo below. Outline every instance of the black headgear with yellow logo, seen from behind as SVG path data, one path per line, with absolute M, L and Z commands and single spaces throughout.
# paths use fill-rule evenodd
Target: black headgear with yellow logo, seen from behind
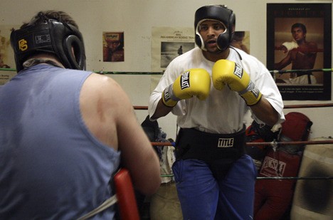
M 48 19 L 11 32 L 17 72 L 34 53 L 53 53 L 65 68 L 85 70 L 85 47 L 78 28 Z M 72 53 L 74 49 L 74 55 Z

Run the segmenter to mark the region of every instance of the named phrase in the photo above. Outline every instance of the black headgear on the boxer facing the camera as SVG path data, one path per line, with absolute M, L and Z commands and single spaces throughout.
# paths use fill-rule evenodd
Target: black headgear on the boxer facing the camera
M 226 26 L 226 31 L 220 33 L 216 40 L 218 49 L 225 51 L 229 47 L 233 38 L 233 28 L 236 22 L 236 16 L 233 14 L 231 9 L 228 9 L 224 5 L 210 5 L 202 6 L 196 10 L 194 19 L 194 28 L 196 31 L 196 45 L 198 45 L 202 50 L 206 50 L 202 37 L 199 33 L 199 26 L 202 21 L 211 19 L 216 21 L 221 21 Z

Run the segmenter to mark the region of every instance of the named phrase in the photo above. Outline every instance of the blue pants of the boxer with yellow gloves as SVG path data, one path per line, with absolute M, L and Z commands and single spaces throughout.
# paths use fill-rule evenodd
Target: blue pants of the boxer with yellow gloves
M 250 156 L 236 160 L 220 182 L 198 159 L 177 160 L 172 170 L 184 219 L 253 219 L 257 171 Z

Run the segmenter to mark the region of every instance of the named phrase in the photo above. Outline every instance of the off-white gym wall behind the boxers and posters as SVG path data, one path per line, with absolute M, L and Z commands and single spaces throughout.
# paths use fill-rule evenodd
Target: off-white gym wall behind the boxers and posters
M 63 10 L 73 16 L 83 33 L 88 70 L 150 72 L 152 27 L 191 28 L 194 26 L 194 12 L 200 6 L 226 4 L 236 14 L 236 31 L 250 31 L 250 53 L 265 64 L 266 4 L 282 2 L 330 3 L 332 1 L 0 0 L 0 26 L 20 26 L 22 21 L 28 21 L 41 10 Z M 125 33 L 125 62 L 102 61 L 103 31 Z M 133 105 L 148 105 L 150 75 L 110 75 L 110 77 L 122 85 Z M 332 103 L 332 100 L 284 103 L 285 105 L 317 104 Z M 332 108 L 288 109 L 285 113 L 290 111 L 303 112 L 314 122 L 310 138 L 333 136 Z M 147 116 L 147 110 L 135 112 L 140 123 Z M 158 122 L 168 138 L 176 137 L 176 120 L 171 113 Z

